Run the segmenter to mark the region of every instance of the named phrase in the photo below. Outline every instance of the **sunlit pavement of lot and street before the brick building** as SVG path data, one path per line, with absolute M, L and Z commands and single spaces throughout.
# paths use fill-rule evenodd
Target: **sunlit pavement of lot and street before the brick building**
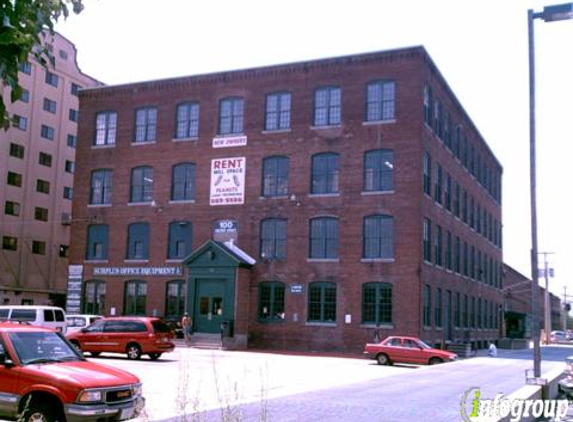
M 484 353 L 482 353 L 484 354 Z M 573 348 L 542 349 L 542 372 Z M 465 391 L 505 395 L 524 385 L 531 350 L 500 350 L 437 366 L 378 366 L 360 358 L 178 347 L 159 361 L 94 359 L 137 374 L 151 421 L 459 421 Z M 90 358 L 91 359 L 91 358 Z

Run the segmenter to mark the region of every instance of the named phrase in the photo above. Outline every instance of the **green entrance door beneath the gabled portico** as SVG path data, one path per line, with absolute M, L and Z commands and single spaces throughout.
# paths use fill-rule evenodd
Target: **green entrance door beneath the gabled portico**
M 197 280 L 197 325 L 199 333 L 219 333 L 223 321 L 225 280 Z

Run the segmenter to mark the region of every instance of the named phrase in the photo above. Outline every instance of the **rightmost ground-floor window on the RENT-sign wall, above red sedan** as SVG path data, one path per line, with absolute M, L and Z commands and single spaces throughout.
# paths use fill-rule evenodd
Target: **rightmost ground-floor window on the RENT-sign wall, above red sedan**
M 362 286 L 362 323 L 392 323 L 392 285 L 366 283 Z

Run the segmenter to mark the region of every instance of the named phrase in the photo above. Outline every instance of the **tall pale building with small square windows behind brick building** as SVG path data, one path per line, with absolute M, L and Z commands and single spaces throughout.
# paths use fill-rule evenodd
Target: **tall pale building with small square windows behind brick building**
M 15 124 L 0 130 L 0 304 L 65 305 L 78 91 L 100 83 L 80 71 L 69 40 L 55 34 L 46 44 L 55 67 L 30 56 L 24 95 L 4 96 Z

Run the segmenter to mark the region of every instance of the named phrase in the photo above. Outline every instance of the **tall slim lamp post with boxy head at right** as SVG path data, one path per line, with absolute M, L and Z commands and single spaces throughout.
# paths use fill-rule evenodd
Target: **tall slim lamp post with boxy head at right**
M 539 274 L 537 264 L 537 186 L 535 158 L 535 49 L 533 21 L 545 22 L 573 19 L 573 3 L 546 6 L 542 12 L 527 11 L 529 33 L 529 176 L 531 196 L 531 306 L 533 336 L 533 376 L 541 377 L 541 349 L 539 345 Z M 548 335 L 548 333 L 546 333 Z

